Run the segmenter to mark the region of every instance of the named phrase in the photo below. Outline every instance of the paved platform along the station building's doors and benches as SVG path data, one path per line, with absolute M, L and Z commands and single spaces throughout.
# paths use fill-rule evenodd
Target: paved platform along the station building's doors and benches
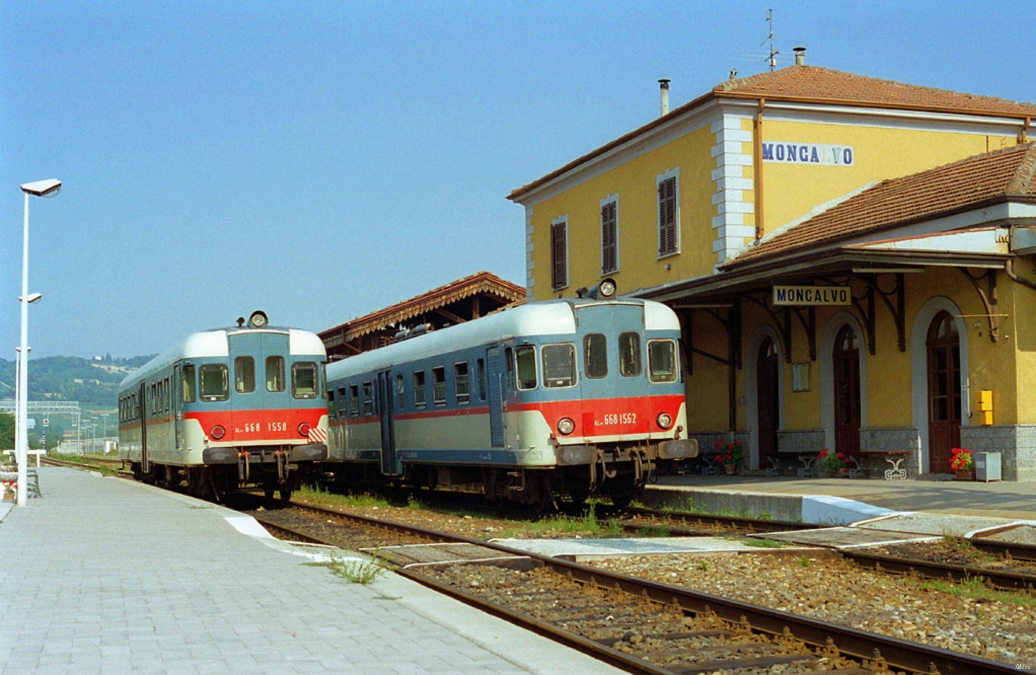
M 663 476 L 659 478 L 657 486 L 649 487 L 649 494 L 657 488 L 799 497 L 823 495 L 895 511 L 942 512 L 1010 520 L 1036 519 L 1036 482 L 1033 481 Z M 774 518 L 780 518 L 777 512 L 771 512 Z

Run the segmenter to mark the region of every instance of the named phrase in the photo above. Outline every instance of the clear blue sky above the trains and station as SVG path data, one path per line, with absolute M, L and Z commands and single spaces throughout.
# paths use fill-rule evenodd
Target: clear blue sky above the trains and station
M 672 105 L 815 65 L 1036 100 L 1027 2 L 0 3 L 0 346 L 160 351 L 254 309 L 326 328 L 488 269 L 505 197 Z M 2 304 L 2 303 L 0 303 Z M 7 352 L 3 350 L 7 349 Z M 13 349 L 0 348 L 10 358 Z

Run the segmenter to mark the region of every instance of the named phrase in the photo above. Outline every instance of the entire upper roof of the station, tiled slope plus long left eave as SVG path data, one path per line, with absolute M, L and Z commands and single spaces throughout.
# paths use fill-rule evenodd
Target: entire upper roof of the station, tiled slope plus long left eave
M 694 100 L 673 109 L 668 115 L 657 117 L 643 126 L 576 157 L 546 176 L 512 190 L 508 195 L 508 199 L 517 199 L 530 189 L 562 176 L 608 150 L 632 141 L 644 131 L 684 115 L 717 96 L 751 98 L 761 96 L 770 100 L 810 100 L 830 105 L 981 114 L 1017 117 L 1019 119 L 1036 117 L 1036 104 L 1008 100 L 997 96 L 979 96 L 948 89 L 921 87 L 893 80 L 881 80 L 853 72 L 831 70 L 815 65 L 793 65 L 773 72 L 760 72 L 747 78 L 722 82 Z

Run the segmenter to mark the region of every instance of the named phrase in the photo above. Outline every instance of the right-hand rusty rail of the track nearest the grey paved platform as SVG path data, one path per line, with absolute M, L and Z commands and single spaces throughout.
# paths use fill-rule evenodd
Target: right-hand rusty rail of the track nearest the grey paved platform
M 290 505 L 324 516 L 358 521 L 373 527 L 419 534 L 440 541 L 470 544 L 500 551 L 509 555 L 525 556 L 526 558 L 540 561 L 552 571 L 581 583 L 626 591 L 638 597 L 648 597 L 664 605 L 679 606 L 695 614 L 714 612 L 720 618 L 735 623 L 744 622 L 747 619 L 748 623 L 755 630 L 775 636 L 783 635 L 785 630 L 788 630 L 795 638 L 806 643 L 817 647 L 834 646 L 840 652 L 856 658 L 874 659 L 880 655 L 892 668 L 901 668 L 916 673 L 928 673 L 931 672 L 931 668 L 934 666 L 944 675 L 965 673 L 969 675 L 984 675 L 986 673 L 1017 672 L 1013 667 L 987 658 L 868 633 L 859 628 L 838 625 L 779 610 L 772 610 L 680 586 L 637 579 L 628 575 L 621 575 L 578 562 L 529 553 L 528 551 L 482 541 L 471 537 L 437 532 L 428 528 L 409 526 L 368 516 L 314 506 L 312 504 L 290 502 Z

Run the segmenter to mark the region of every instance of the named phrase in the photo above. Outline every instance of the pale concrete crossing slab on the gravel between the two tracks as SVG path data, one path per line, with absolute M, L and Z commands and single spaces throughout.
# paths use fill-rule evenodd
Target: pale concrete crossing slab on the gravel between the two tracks
M 638 537 L 635 539 L 492 539 L 529 553 L 580 560 L 602 556 L 642 556 L 672 553 L 760 553 L 776 549 L 748 546 L 719 536 Z M 786 549 L 781 549 L 786 551 Z

